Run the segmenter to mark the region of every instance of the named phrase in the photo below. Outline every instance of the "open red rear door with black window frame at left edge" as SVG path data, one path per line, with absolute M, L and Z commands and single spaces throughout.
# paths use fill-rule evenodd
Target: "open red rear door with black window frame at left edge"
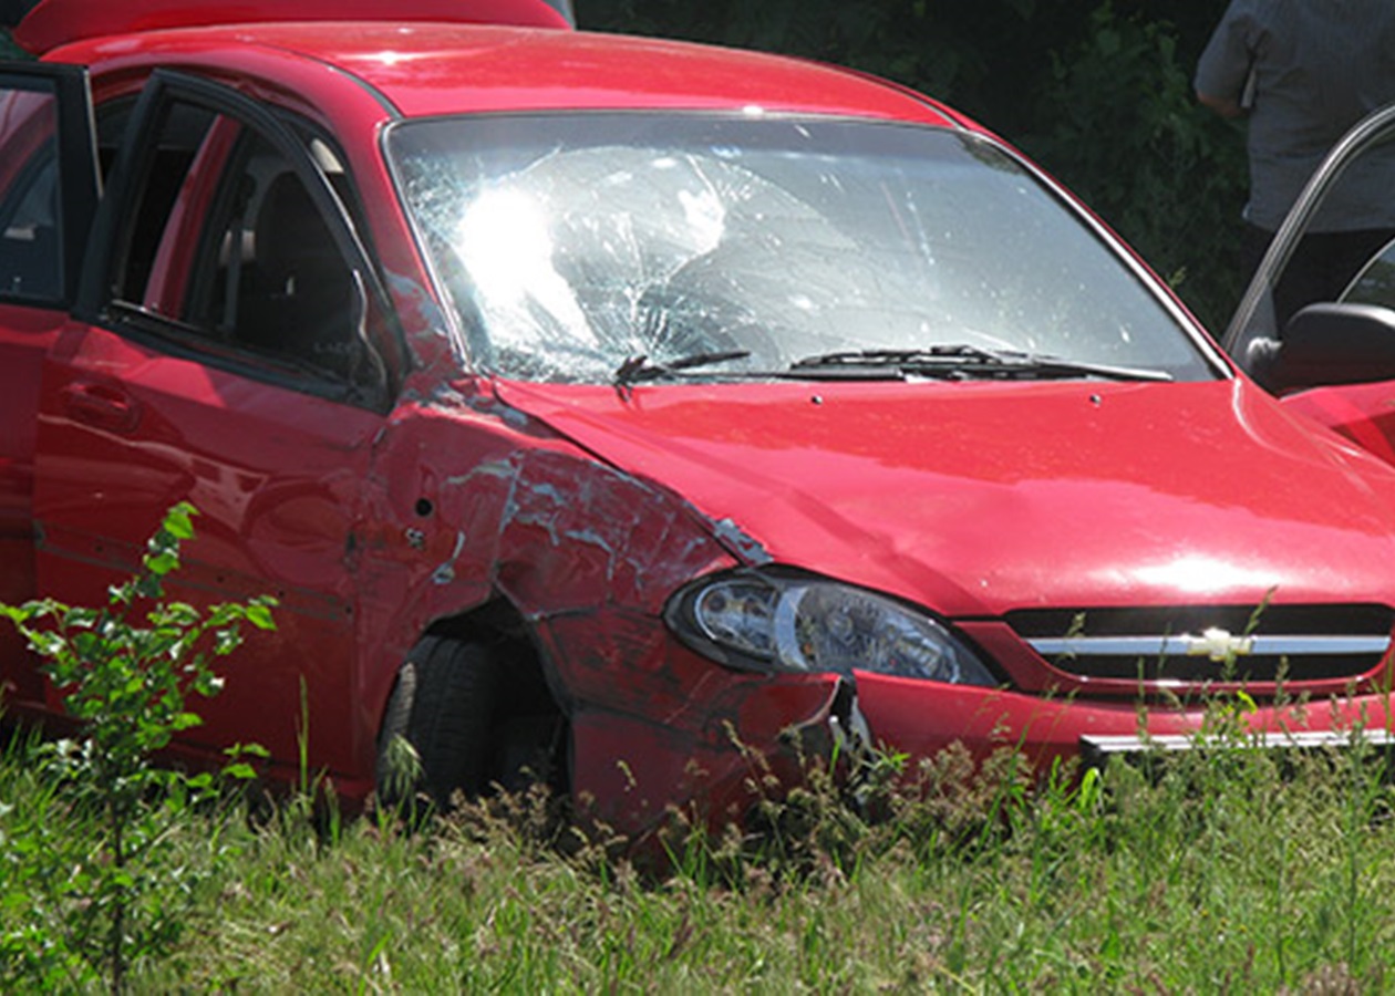
M 0 63 L 0 601 L 35 597 L 33 460 L 43 357 L 67 318 L 98 201 L 86 71 Z M 0 625 L 0 699 L 42 693 Z

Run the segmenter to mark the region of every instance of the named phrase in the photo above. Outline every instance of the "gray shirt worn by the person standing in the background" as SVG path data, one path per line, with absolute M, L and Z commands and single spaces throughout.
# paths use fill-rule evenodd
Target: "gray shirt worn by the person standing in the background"
M 1196 88 L 1247 106 L 1246 218 L 1272 232 L 1342 133 L 1395 100 L 1395 0 L 1232 0 L 1201 54 Z M 1343 183 L 1313 227 L 1395 222 L 1391 165 L 1387 176 Z

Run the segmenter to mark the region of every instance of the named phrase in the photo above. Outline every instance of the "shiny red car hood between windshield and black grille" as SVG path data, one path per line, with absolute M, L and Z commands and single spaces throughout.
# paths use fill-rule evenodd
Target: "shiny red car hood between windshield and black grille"
M 1395 471 L 1253 384 L 498 384 L 769 557 L 950 617 L 1395 603 Z

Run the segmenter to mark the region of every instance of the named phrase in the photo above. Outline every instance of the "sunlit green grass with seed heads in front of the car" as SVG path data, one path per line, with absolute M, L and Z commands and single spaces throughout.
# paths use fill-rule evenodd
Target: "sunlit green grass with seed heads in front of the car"
M 25 841 L 66 826 L 33 745 L 0 760 L 0 936 L 59 929 Z M 636 870 L 541 803 L 407 833 L 190 812 L 197 882 L 137 992 L 1380 992 L 1395 968 L 1395 826 L 1380 759 L 1243 746 L 1028 788 L 943 760 L 883 819 L 819 777 L 763 837 L 678 837 Z M 548 840 L 548 834 L 558 840 Z M 42 841 L 40 841 L 42 843 Z M 233 861 L 226 852 L 236 852 Z M 225 855 L 218 861 L 218 855 Z M 27 890 L 21 894 L 21 890 Z M 50 919 L 45 919 L 49 916 Z M 52 968 L 52 967 L 50 967 Z M 0 989 L 61 989 L 0 965 Z

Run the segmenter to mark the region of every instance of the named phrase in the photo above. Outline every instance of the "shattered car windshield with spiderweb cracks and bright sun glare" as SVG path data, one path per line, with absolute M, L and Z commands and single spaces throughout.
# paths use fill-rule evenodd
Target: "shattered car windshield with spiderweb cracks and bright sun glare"
M 809 357 L 964 346 L 1215 375 L 1074 211 L 963 133 L 530 114 L 403 123 L 386 148 L 477 370 L 823 375 Z

